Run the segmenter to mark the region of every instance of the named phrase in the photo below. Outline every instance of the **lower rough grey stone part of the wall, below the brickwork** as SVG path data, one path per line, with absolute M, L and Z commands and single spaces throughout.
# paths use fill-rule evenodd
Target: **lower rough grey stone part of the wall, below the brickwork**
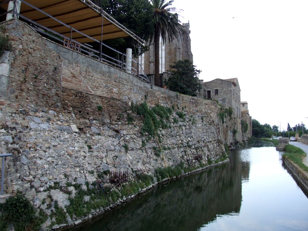
M 54 201 L 67 213 L 78 191 L 74 184 L 87 190 L 87 184 L 93 185 L 108 170 L 127 170 L 129 179 L 135 180 L 136 174 L 155 176 L 155 169 L 164 168 L 157 141 L 141 136 L 142 120 L 131 111 L 128 112 L 135 118 L 132 124 L 120 121 L 102 125 L 98 120 L 77 119 L 74 114 L 55 108 L 32 104 L 23 107 L 5 99 L 0 105 L 0 148 L 2 153 L 13 154 L 6 158 L 5 191 L 24 192 L 36 208 L 49 215 L 42 226 L 44 230 L 79 225 L 136 196 L 133 193 L 126 197 L 119 192 L 115 201 L 109 198 L 107 207 L 91 209 L 82 217 L 67 214 L 66 221 L 57 224 L 56 216 L 51 215 L 55 213 Z M 224 160 L 224 145 L 217 140 L 214 126 L 204 126 L 200 116 L 194 116 L 194 120 L 188 115 L 180 118 L 176 112 L 171 116 L 178 122 L 158 130 L 167 166 L 174 167 L 192 159 L 193 154 L 201 154 L 202 167 L 197 165 L 187 170 L 189 173 Z M 203 133 L 198 139 L 197 131 Z M 156 178 L 154 182 L 157 184 Z M 155 184 L 140 188 L 138 193 Z M 84 203 L 88 197 L 84 197 Z

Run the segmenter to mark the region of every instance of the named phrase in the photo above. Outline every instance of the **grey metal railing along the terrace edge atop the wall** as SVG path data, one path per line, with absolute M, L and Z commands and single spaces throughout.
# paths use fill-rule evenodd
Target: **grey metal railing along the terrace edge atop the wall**
M 10 0 L 6 0 L 6 1 L 0 3 L 0 6 L 2 4 L 9 2 L 9 1 Z M 70 34 L 71 34 L 71 37 L 67 37 L 63 34 L 60 34 L 60 33 L 56 32 L 54 30 L 51 30 L 50 28 L 48 28 L 46 26 L 43 26 L 43 25 L 41 25 L 37 22 L 34 22 L 30 18 L 27 18 L 27 17 L 23 16 L 22 14 L 19 14 L 16 10 L 15 0 L 14 0 L 14 9 L 1 14 L 0 16 L 3 16 L 3 15 L 6 15 L 8 13 L 13 12 L 13 18 L 14 18 L 14 15 L 17 15 L 19 18 L 22 18 L 23 21 L 26 21 L 32 29 L 38 31 L 40 34 L 46 35 L 48 38 L 52 38 L 52 40 L 54 42 L 59 43 L 59 44 L 65 46 L 65 47 L 69 47 L 76 52 L 79 52 L 79 53 L 88 55 L 92 58 L 98 59 L 98 61 L 109 63 L 113 67 L 116 67 L 116 68 L 121 69 L 123 71 L 126 71 L 126 72 L 129 71 L 130 74 L 135 75 L 138 79 L 141 79 L 142 81 L 151 84 L 150 80 L 148 79 L 148 76 L 145 74 L 143 68 L 139 64 L 139 60 L 138 60 L 138 62 L 136 62 L 134 59 L 128 57 L 128 59 L 131 60 L 132 63 L 135 64 L 136 68 L 133 67 L 132 65 L 128 65 L 127 63 L 125 63 L 125 60 L 126 60 L 126 57 L 127 57 L 126 54 L 124 54 L 120 51 L 117 51 L 117 50 L 113 49 L 112 47 L 109 47 L 106 44 L 102 43 L 102 41 L 94 39 L 94 38 L 88 36 L 87 34 L 84 34 L 83 32 L 76 30 L 72 26 L 69 26 L 69 25 L 61 22 L 59 19 L 54 18 L 50 14 L 47 14 L 43 10 L 31 5 L 30 3 L 26 2 L 25 0 L 19 0 L 19 1 L 26 4 L 27 6 L 30 6 L 34 10 L 37 10 L 37 11 L 41 12 L 42 14 L 45 14 L 48 18 L 55 20 L 56 22 L 60 23 L 61 25 L 66 26 L 68 28 L 68 32 L 70 32 Z M 104 11 L 102 11 L 102 12 L 104 12 Z M 103 13 L 102 13 L 102 22 L 103 22 Z M 72 33 L 74 33 L 74 32 L 77 32 L 80 35 L 87 37 L 88 39 L 92 40 L 93 42 L 99 43 L 100 49 L 95 50 L 87 44 L 79 43 L 76 40 L 72 39 Z M 103 51 L 106 50 L 106 49 L 108 49 L 111 52 L 114 52 L 116 55 L 114 57 L 112 57 L 110 55 L 103 53 Z M 116 57 L 119 57 L 120 59 L 117 59 Z

